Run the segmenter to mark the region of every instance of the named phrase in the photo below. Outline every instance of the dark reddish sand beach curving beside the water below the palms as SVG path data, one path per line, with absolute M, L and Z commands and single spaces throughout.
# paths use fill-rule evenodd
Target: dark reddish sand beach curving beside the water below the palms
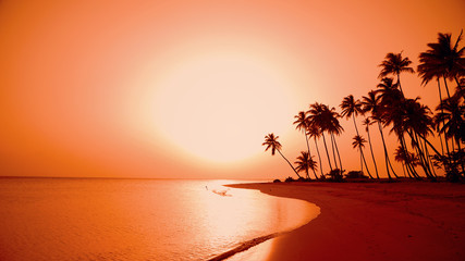
M 278 236 L 267 260 L 465 260 L 465 185 L 450 183 L 242 184 L 321 209 Z

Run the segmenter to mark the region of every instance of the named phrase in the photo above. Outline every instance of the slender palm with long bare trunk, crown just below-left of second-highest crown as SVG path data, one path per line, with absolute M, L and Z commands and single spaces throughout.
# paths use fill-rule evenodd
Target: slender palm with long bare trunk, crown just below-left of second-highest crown
M 374 120 L 374 122 L 378 123 L 379 133 L 381 134 L 381 141 L 382 141 L 382 146 L 383 146 L 383 149 L 384 149 L 386 170 L 387 170 L 389 179 L 392 179 L 391 173 L 389 171 L 389 154 L 388 154 L 388 149 L 386 147 L 384 135 L 382 134 L 382 127 L 381 127 L 381 123 L 382 123 L 382 117 L 381 117 L 381 111 L 382 111 L 382 109 L 381 109 L 381 98 L 380 98 L 380 96 L 377 95 L 376 91 L 370 90 L 368 92 L 368 96 L 362 97 L 362 105 L 364 108 L 364 112 L 370 112 L 371 113 L 371 119 Z M 393 170 L 392 170 L 392 172 L 394 173 Z M 394 175 L 395 175 L 395 173 L 394 173 Z

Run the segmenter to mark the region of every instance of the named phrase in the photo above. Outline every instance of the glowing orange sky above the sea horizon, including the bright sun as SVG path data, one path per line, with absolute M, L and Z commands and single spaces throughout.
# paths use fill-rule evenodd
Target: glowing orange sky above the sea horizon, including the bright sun
M 2 0 L 0 175 L 292 175 L 262 152 L 266 134 L 294 161 L 306 148 L 294 114 L 375 89 L 387 52 L 416 67 L 439 32 L 456 38 L 464 11 L 463 0 Z M 436 107 L 436 86 L 402 82 Z M 358 170 L 341 122 L 344 169 Z

